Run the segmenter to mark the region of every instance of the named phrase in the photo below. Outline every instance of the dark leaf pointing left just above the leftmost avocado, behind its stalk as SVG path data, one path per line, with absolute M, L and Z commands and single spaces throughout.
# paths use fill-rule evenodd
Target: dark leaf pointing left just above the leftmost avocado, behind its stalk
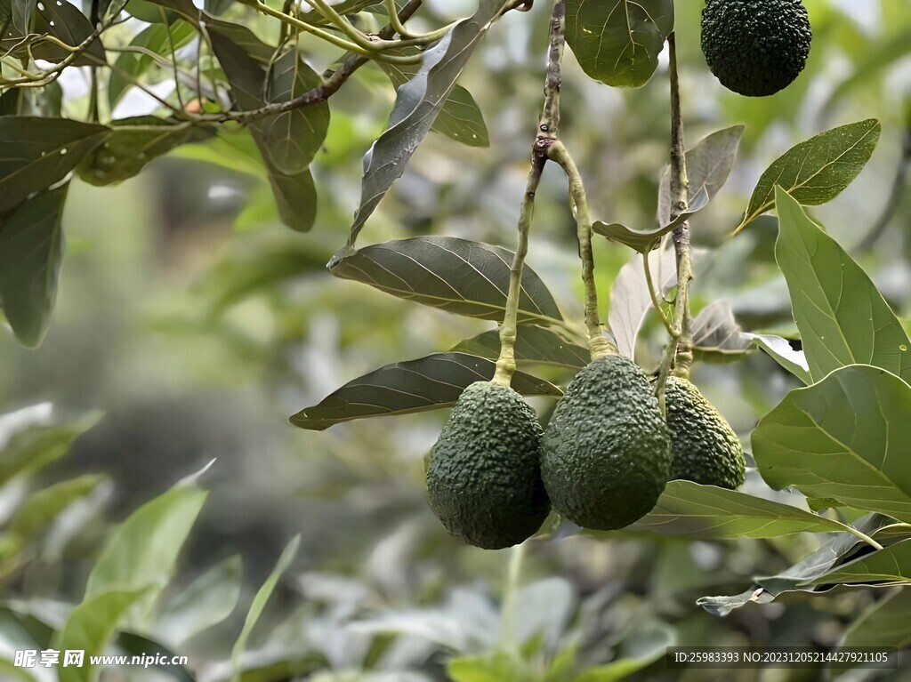
M 322 431 L 353 419 L 452 407 L 469 384 L 490 381 L 495 370 L 495 361 L 460 352 L 395 362 L 346 383 L 318 405 L 293 415 L 291 422 Z M 513 375 L 512 387 L 523 395 L 560 395 L 553 384 L 525 372 Z

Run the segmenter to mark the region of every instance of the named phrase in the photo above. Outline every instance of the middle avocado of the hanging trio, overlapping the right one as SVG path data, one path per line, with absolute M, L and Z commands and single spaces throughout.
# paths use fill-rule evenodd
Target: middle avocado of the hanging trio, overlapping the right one
M 560 514 L 615 530 L 651 511 L 670 456 L 670 433 L 645 375 L 609 355 L 569 383 L 544 433 L 541 477 Z

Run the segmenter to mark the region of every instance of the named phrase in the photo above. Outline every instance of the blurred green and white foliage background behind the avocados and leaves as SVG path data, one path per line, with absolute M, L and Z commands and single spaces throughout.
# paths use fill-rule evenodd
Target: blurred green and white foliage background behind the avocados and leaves
M 442 22 L 472 3 L 427 5 Z M 763 99 L 723 90 L 709 73 L 699 48 L 701 3 L 679 3 L 677 11 L 688 142 L 746 126 L 727 186 L 692 222 L 697 246 L 706 249 L 695 307 L 728 300 L 744 330 L 786 337 L 796 330 L 773 260 L 775 219 L 758 220 L 737 239 L 728 235 L 774 158 L 861 118 L 882 121 L 881 144 L 855 185 L 813 212 L 896 312 L 911 316 L 911 193 L 901 191 L 908 184 L 901 168 L 911 158 L 911 11 L 906 0 L 805 5 L 814 27 L 806 70 L 792 87 Z M 548 11 L 548 3 L 537 2 L 527 14 L 508 15 L 460 81 L 484 112 L 490 147 L 429 137 L 370 220 L 363 244 L 436 234 L 512 246 L 540 105 Z M 334 53 L 313 50 L 319 71 Z M 590 81 L 567 55 L 561 137 L 599 219 L 653 223 L 668 158 L 665 66 L 662 59 L 646 87 L 617 90 Z M 65 107 L 81 110 L 85 83 L 78 69 L 71 71 L 62 83 Z M 358 71 L 333 97 L 332 124 L 312 167 L 320 206 L 309 234 L 281 226 L 242 132 L 180 148 L 115 188 L 74 180 L 55 324 L 36 351 L 0 331 L 0 412 L 51 403 L 53 417 L 47 405 L 20 417 L 67 422 L 97 411 L 103 418 L 67 457 L 0 480 L 3 519 L 48 485 L 98 477 L 82 479 L 78 508 L 27 537 L 27 555 L 0 576 L 5 598 L 35 613 L 77 602 L 107 524 L 216 459 L 201 479 L 210 496 L 168 592 L 181 594 L 200 575 L 211 576 L 213 566 L 220 566 L 215 578 L 225 594 L 230 585 L 242 587 L 226 620 L 173 640 L 200 680 L 227 678 L 226 642 L 241 631 L 254 591 L 295 534 L 300 549 L 252 633 L 243 679 L 822 678 L 820 670 L 667 671 L 660 656 L 671 643 L 838 642 L 881 591 L 784 595 L 726 618 L 694 604 L 701 595 L 742 591 L 752 575 L 792 565 L 824 537 L 601 539 L 561 526 L 529 544 L 518 584 L 507 589 L 509 552 L 448 537 L 425 504 L 423 458 L 445 412 L 349 422 L 322 433 L 289 425 L 290 414 L 343 382 L 447 350 L 494 326 L 335 280 L 324 269 L 347 236 L 361 158 L 393 101 L 376 66 Z M 120 106 L 125 115 L 148 111 L 136 92 Z M 548 167 L 537 196 L 528 262 L 578 320 L 581 283 L 565 179 Z M 607 306 L 630 251 L 598 239 L 595 258 Z M 661 342 L 660 324 L 650 320 L 637 351 L 644 367 L 654 367 Z M 568 379 L 561 370 L 546 372 L 554 381 Z M 797 385 L 762 352 L 698 363 L 693 378 L 742 435 Z M 552 407 L 534 402 L 541 412 Z M 8 419 L 0 436 L 17 428 L 22 423 Z M 769 494 L 757 479 L 748 475 L 747 492 Z M 64 519 L 76 521 L 67 526 Z M 242 572 L 237 560 L 221 564 L 233 556 L 241 557 Z M 512 605 L 505 611 L 504 598 Z M 167 623 L 176 616 L 164 609 L 159 617 Z M 9 630 L 0 632 L 8 644 Z M 156 675 L 124 668 L 105 679 Z

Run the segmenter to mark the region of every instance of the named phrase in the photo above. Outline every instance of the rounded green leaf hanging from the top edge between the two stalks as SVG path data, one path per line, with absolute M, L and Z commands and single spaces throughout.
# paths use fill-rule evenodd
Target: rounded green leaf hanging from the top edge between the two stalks
M 674 28 L 673 0 L 567 0 L 567 44 L 591 78 L 640 87 Z

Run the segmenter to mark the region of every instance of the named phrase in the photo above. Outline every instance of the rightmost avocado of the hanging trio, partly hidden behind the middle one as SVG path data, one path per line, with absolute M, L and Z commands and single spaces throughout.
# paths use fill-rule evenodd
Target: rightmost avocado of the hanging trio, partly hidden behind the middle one
M 743 484 L 743 446 L 731 424 L 689 379 L 669 377 L 664 392 L 674 455 L 670 478 L 731 490 Z

